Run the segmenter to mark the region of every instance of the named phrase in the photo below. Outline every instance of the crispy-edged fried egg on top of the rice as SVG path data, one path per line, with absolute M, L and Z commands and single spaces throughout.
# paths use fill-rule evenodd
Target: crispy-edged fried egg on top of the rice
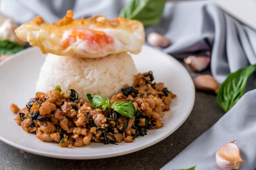
M 15 32 L 22 41 L 39 47 L 43 53 L 83 58 L 120 52 L 137 54 L 145 41 L 144 26 L 137 20 L 123 17 L 107 20 L 102 15 L 74 20 L 71 10 L 53 24 L 47 24 L 37 16 Z

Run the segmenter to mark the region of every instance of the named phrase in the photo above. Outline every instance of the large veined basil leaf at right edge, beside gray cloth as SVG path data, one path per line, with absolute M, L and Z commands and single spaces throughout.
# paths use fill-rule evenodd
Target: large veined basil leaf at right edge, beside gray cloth
M 217 100 L 222 109 L 227 112 L 243 96 L 247 79 L 255 70 L 255 65 L 242 68 L 229 74 L 227 79 L 220 85 Z

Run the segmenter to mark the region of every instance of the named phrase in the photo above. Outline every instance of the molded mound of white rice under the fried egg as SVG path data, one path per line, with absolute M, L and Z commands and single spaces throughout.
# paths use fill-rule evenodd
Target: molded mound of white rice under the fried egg
M 86 94 L 110 97 L 120 92 L 124 85 L 133 84 L 137 70 L 127 53 L 97 59 L 48 54 L 43 64 L 36 91 L 48 92 L 57 85 L 63 91 L 74 89 L 79 98 Z

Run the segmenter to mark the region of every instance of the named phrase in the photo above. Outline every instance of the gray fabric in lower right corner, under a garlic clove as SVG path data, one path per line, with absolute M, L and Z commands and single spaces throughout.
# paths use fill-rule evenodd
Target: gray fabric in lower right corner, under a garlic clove
M 256 89 L 247 92 L 216 124 L 186 147 L 161 170 L 190 168 L 219 170 L 217 150 L 236 139 L 244 160 L 240 170 L 256 168 Z

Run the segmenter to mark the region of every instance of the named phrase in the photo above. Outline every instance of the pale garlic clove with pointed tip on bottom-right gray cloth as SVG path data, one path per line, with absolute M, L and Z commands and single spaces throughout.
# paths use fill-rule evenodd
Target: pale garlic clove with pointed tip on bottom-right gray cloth
M 224 144 L 216 153 L 216 163 L 222 170 L 238 170 L 243 163 L 240 150 L 234 142 Z

